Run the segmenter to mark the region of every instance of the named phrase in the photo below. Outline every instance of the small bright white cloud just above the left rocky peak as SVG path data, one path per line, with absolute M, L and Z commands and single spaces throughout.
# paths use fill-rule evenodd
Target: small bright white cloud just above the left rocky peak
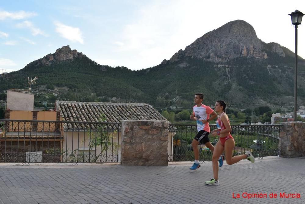
M 84 44 L 84 39 L 81 33 L 81 30 L 78 27 L 71 27 L 64 25 L 60 22 L 54 22 L 56 26 L 56 32 L 63 38 L 66 38 L 72 42 L 79 42 Z

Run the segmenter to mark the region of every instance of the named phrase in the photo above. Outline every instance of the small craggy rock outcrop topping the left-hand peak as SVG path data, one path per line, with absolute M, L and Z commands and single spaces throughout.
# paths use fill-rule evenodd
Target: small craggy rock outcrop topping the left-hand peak
M 51 65 L 54 62 L 60 62 L 65 60 L 74 60 L 76 58 L 86 57 L 83 53 L 78 53 L 76 49 L 71 50 L 70 46 L 63 46 L 56 50 L 53 54 L 48 54 L 41 59 L 35 60 L 30 64 L 34 65 Z

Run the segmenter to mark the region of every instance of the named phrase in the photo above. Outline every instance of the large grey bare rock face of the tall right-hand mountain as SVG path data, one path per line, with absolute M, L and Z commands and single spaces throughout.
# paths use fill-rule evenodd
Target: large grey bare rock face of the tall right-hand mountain
M 274 46 L 278 51 L 279 46 Z M 266 59 L 264 44 L 257 38 L 254 28 L 243 20 L 231 21 L 198 38 L 184 51 L 179 50 L 170 59 L 176 61 L 184 56 L 212 62 L 222 62 L 236 57 Z M 280 51 L 279 51 L 280 52 Z

